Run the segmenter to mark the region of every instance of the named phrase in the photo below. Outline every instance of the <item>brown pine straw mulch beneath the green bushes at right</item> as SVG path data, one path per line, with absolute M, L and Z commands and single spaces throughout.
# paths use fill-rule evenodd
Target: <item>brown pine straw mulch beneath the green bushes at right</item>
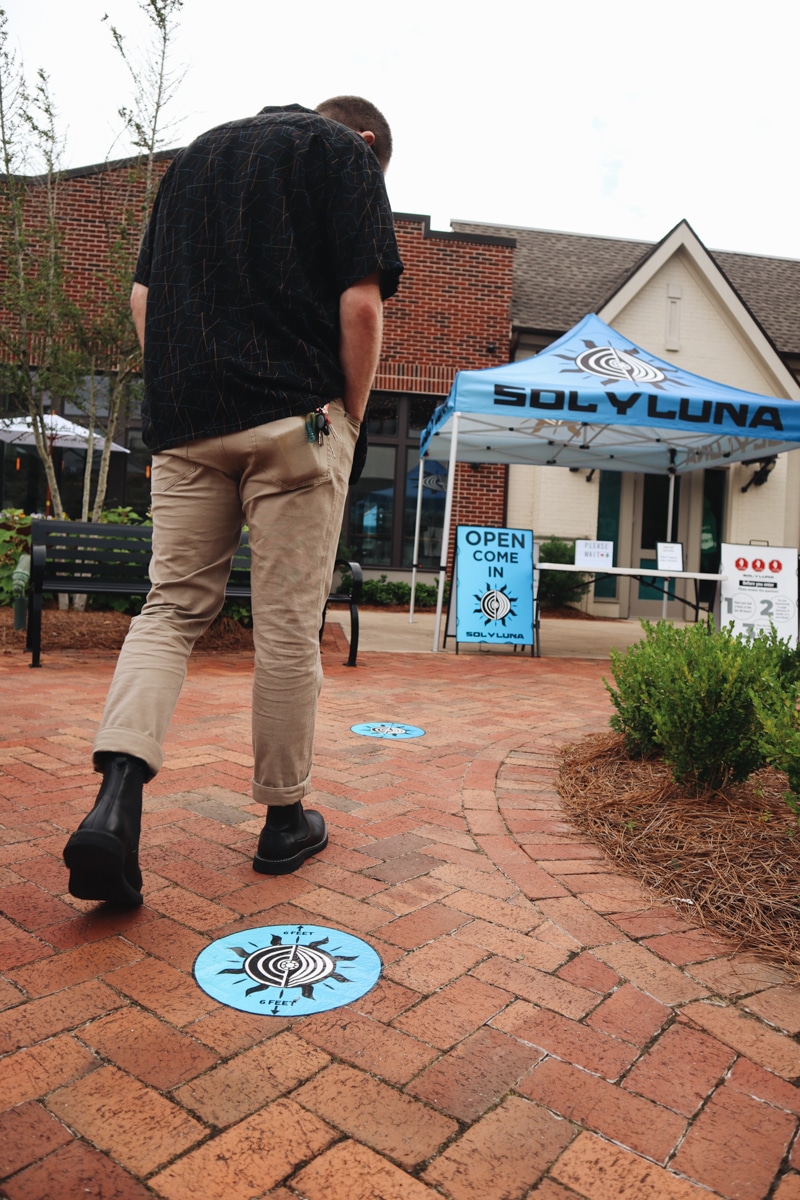
M 615 733 L 569 748 L 560 774 L 570 816 L 620 869 L 739 949 L 800 973 L 800 829 L 784 791 L 786 776 L 766 768 L 724 794 L 688 797 L 663 762 L 628 758 Z

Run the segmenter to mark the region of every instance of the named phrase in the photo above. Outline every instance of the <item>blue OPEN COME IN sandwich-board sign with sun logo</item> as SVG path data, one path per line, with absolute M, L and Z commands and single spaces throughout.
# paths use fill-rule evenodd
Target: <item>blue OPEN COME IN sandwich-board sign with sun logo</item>
M 458 527 L 456 641 L 533 644 L 534 535 L 530 529 Z

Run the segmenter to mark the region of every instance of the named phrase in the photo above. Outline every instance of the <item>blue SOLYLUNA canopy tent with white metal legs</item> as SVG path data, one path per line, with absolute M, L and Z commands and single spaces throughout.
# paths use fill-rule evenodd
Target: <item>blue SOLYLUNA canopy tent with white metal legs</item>
M 457 462 L 668 475 L 669 529 L 675 475 L 798 449 L 800 402 L 684 371 L 595 313 L 534 358 L 459 371 L 420 437 L 420 474 L 426 457 L 450 463 L 433 648 L 439 648 Z M 417 505 L 415 563 L 419 534 Z

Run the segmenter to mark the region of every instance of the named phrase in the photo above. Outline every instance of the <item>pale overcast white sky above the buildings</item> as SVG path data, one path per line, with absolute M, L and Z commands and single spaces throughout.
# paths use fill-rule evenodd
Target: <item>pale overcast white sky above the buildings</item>
M 2 0 L 0 0 L 2 2 Z M 128 152 L 109 23 L 138 0 L 5 0 L 43 67 L 65 164 Z M 109 22 L 102 23 L 108 13 Z M 796 0 L 185 0 L 168 145 L 264 104 L 373 100 L 395 134 L 396 211 L 800 258 Z

